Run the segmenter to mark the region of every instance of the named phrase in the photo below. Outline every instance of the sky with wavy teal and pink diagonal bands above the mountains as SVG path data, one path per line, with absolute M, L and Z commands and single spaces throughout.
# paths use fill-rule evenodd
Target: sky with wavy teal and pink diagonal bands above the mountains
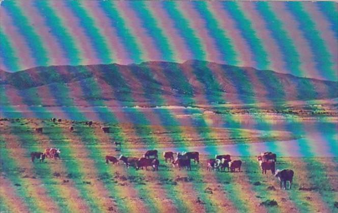
M 3 1 L 0 68 L 212 61 L 338 81 L 336 2 Z

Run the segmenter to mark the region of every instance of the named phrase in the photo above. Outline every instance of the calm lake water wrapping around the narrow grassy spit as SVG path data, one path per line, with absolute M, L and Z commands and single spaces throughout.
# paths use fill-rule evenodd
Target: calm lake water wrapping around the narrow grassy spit
M 0 107 L 0 116 L 7 118 L 51 117 L 76 121 L 93 120 L 109 123 L 133 123 L 194 127 L 241 128 L 254 130 L 289 131 L 302 138 L 291 141 L 271 141 L 268 143 L 182 147 L 171 150 L 194 150 L 204 154 L 231 154 L 240 156 L 257 155 L 272 151 L 278 156 L 338 156 L 337 120 L 296 119 L 265 115 L 203 115 L 199 109 L 160 108 L 107 108 L 107 107 Z M 162 149 L 158 149 L 161 150 Z

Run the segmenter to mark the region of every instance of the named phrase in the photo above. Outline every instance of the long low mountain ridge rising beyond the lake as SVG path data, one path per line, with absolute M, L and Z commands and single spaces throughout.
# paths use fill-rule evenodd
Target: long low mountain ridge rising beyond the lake
M 337 82 L 198 60 L 0 70 L 0 87 L 17 96 L 2 98 L 4 105 L 18 99 L 27 105 L 186 105 L 338 97 Z

